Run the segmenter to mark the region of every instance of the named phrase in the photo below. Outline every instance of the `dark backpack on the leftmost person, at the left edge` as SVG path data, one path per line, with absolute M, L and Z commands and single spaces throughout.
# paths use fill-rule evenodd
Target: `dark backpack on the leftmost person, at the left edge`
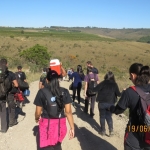
M 7 66 L 0 64 L 0 99 L 6 97 L 11 87 L 12 84 L 8 78 L 8 68 Z

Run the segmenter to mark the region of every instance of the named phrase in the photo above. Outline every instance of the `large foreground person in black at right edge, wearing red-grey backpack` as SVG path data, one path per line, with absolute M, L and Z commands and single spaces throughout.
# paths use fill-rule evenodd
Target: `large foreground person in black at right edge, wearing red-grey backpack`
M 129 68 L 129 79 L 135 86 L 124 90 L 117 105 L 111 106 L 110 111 L 118 115 L 129 108 L 129 121 L 124 136 L 124 150 L 150 150 L 149 127 L 145 125 L 145 122 L 141 122 L 145 117 L 142 107 L 144 104 L 147 105 L 145 109 L 150 107 L 149 66 L 143 66 L 140 63 L 132 64 Z M 141 95 L 138 94 L 138 91 L 142 93 L 142 97 L 148 98 L 146 101 L 143 97 L 143 104 L 141 103 Z M 146 110 L 146 112 L 148 112 L 147 117 L 149 117 L 149 110 Z M 147 121 L 149 122 L 149 120 Z

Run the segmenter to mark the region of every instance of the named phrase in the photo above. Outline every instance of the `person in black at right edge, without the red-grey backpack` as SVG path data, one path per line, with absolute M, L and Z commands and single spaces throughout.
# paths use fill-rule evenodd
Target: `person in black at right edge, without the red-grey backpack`
M 129 68 L 129 76 L 132 83 L 146 93 L 150 93 L 150 68 L 140 63 L 134 63 Z M 132 89 L 127 88 L 121 94 L 121 98 L 116 106 L 111 106 L 112 113 L 121 114 L 129 108 L 129 122 L 127 124 L 124 136 L 124 150 L 150 150 L 150 145 L 142 140 L 139 133 L 144 131 L 137 130 L 140 126 L 139 116 L 137 114 L 139 106 L 139 95 Z M 135 129 L 132 131 L 132 129 Z

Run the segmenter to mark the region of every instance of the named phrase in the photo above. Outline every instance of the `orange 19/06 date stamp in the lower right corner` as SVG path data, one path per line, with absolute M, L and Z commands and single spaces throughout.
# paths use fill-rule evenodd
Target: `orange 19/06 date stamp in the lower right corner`
M 150 132 L 150 126 L 146 125 L 129 125 L 128 126 L 128 131 L 129 132 Z

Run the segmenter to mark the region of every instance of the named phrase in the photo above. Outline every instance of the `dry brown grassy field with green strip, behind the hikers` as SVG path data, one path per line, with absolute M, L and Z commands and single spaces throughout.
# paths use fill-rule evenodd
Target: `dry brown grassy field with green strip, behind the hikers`
M 101 79 L 108 70 L 113 71 L 120 89 L 130 84 L 128 68 L 132 63 L 150 65 L 147 43 L 66 30 L 0 28 L 0 55 L 7 57 L 11 68 L 21 64 L 32 71 L 31 64 L 20 58 L 19 53 L 35 44 L 47 47 L 51 58 L 60 59 L 65 68 L 76 69 L 80 64 L 86 70 L 86 62 L 91 60 Z

